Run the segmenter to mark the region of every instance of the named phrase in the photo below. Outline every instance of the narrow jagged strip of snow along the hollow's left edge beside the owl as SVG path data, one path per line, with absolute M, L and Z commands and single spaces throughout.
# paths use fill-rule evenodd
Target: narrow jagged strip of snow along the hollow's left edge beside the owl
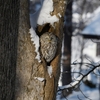
M 33 44 L 35 44 L 35 52 L 37 53 L 36 55 L 36 59 L 41 62 L 40 60 L 40 53 L 39 53 L 39 37 L 38 35 L 36 34 L 36 32 L 34 31 L 34 29 L 31 27 L 29 33 L 31 34 L 31 41 L 33 41 Z

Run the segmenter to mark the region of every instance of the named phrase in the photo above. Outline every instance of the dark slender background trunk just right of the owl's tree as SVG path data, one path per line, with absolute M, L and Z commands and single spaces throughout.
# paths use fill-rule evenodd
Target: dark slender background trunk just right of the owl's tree
M 71 82 L 71 36 L 72 36 L 72 1 L 69 1 L 65 13 L 64 25 L 64 52 L 62 64 L 62 85 L 67 85 Z M 67 93 L 65 93 L 67 95 Z

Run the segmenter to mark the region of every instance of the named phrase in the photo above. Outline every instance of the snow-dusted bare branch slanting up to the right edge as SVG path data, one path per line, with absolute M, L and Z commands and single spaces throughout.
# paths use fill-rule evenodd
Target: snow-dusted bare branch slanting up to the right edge
M 65 86 L 61 86 L 58 88 L 58 91 L 64 90 L 64 89 L 69 89 L 69 88 L 74 88 L 75 86 L 79 85 L 80 82 L 86 77 L 88 76 L 91 72 L 93 72 L 96 68 L 100 67 L 100 63 L 95 63 L 95 64 L 91 64 L 91 63 L 73 63 L 72 65 L 76 65 L 76 64 L 85 64 L 85 65 L 91 65 L 92 68 L 90 70 L 88 70 L 88 72 L 86 74 L 82 74 L 75 79 L 75 81 L 71 82 L 68 85 Z

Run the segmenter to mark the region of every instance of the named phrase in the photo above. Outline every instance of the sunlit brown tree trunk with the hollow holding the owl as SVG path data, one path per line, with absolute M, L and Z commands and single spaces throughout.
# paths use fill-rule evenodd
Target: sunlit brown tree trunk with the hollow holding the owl
M 52 65 L 52 77 L 47 72 L 47 64 L 41 58 L 39 63 L 35 59 L 35 46 L 31 42 L 29 34 L 29 15 L 27 0 L 20 1 L 20 21 L 18 38 L 18 61 L 16 69 L 16 100 L 55 100 L 57 84 L 60 74 L 61 42 L 63 35 L 63 16 L 65 12 L 65 0 L 53 0 L 54 11 L 52 15 L 59 18 L 59 22 L 52 27 L 49 23 L 38 26 L 38 34 L 53 32 L 58 36 L 58 49 L 56 57 L 50 63 Z M 58 16 L 61 14 L 61 17 Z M 44 78 L 39 81 L 35 77 Z

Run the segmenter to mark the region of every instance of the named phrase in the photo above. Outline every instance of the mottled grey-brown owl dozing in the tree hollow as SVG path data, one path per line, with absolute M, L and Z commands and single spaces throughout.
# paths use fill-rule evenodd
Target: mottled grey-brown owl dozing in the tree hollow
M 50 62 L 57 51 L 57 37 L 53 33 L 46 32 L 40 36 L 40 50 L 43 58 Z

